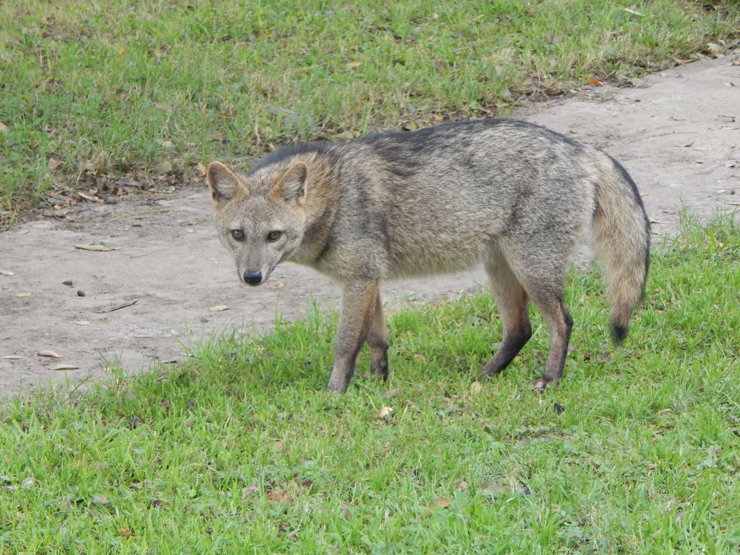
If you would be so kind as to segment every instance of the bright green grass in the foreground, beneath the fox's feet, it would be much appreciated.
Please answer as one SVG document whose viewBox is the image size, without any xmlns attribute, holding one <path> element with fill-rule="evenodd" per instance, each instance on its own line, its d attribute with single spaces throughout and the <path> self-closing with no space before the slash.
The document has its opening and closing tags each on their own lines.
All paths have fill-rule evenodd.
<svg viewBox="0 0 740 555">
<path fill-rule="evenodd" d="M 314 313 L 16 398 L 0 554 L 737 553 L 740 226 L 688 223 L 660 251 L 618 349 L 598 272 L 571 273 L 575 351 L 544 395 L 539 314 L 471 388 L 501 332 L 481 292 L 392 315 L 390 383 L 361 376 L 365 353 L 343 396 L 322 391 L 336 318 Z"/>
</svg>

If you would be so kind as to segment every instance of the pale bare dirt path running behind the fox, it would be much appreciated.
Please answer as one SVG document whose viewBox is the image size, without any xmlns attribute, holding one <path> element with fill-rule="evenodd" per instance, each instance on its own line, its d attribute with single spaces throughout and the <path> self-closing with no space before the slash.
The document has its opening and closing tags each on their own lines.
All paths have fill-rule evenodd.
<svg viewBox="0 0 740 555">
<path fill-rule="evenodd" d="M 733 58 L 650 75 L 634 89 L 585 87 L 514 116 L 607 149 L 635 178 L 654 232 L 669 232 L 682 201 L 700 215 L 740 202 L 740 192 L 733 194 L 740 191 L 740 66 Z M 310 309 L 311 297 L 320 306 L 336 303 L 328 278 L 293 264 L 278 267 L 266 286 L 240 286 L 211 216 L 201 186 L 79 205 L 62 220 L 0 234 L 0 269 L 15 272 L 0 275 L 0 395 L 65 376 L 80 383 L 104 371 L 106 360 L 127 371 L 181 361 L 183 346 L 214 332 L 269 326 L 279 313 L 296 317 Z M 115 250 L 75 249 L 101 241 Z M 386 284 L 383 295 L 423 300 L 480 283 L 482 272 L 468 272 Z M 137 302 L 102 312 L 131 300 Z M 229 309 L 209 311 L 218 305 Z M 42 350 L 61 359 L 39 357 Z M 78 368 L 54 370 L 59 364 Z"/>
</svg>

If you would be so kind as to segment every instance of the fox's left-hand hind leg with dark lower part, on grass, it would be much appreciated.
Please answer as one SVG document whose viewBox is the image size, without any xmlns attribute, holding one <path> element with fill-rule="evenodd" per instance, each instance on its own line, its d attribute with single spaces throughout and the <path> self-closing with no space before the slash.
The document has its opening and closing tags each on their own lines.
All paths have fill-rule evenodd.
<svg viewBox="0 0 740 555">
<path fill-rule="evenodd" d="M 529 323 L 527 292 L 519 283 L 514 272 L 496 247 L 488 256 L 485 272 L 491 281 L 491 292 L 501 312 L 504 324 L 504 337 L 501 348 L 483 367 L 480 378 L 498 374 L 514 360 L 525 343 L 532 337 Z"/>
</svg>

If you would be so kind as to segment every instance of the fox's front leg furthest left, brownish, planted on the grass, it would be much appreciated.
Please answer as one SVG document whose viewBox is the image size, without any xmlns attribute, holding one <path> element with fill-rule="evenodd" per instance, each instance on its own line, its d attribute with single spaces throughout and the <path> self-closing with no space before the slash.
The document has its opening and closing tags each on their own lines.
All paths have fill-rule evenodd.
<svg viewBox="0 0 740 555">
<path fill-rule="evenodd" d="M 339 331 L 334 343 L 334 369 L 326 391 L 347 391 L 357 364 L 357 353 L 368 334 L 378 300 L 377 280 L 352 281 L 344 287 Z"/>
</svg>

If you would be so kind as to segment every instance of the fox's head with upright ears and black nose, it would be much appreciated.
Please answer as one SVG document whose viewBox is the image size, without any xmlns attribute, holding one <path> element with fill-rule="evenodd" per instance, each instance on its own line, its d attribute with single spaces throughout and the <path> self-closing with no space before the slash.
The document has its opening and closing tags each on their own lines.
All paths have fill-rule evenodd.
<svg viewBox="0 0 740 555">
<path fill-rule="evenodd" d="M 209 164 L 206 178 L 218 235 L 244 283 L 265 283 L 275 266 L 300 246 L 308 172 L 303 161 L 260 177 L 239 175 L 221 162 Z"/>
</svg>

